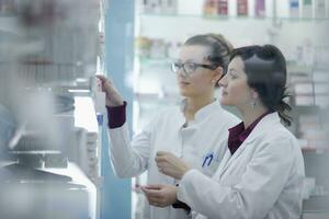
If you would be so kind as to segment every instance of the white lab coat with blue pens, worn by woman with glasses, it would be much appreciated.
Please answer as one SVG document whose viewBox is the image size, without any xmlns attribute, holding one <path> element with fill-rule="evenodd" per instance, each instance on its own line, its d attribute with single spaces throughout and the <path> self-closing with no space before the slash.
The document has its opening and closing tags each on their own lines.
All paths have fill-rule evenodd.
<svg viewBox="0 0 329 219">
<path fill-rule="evenodd" d="M 112 166 L 120 177 L 137 176 L 148 170 L 148 184 L 174 185 L 172 177 L 158 172 L 155 158 L 156 152 L 161 150 L 170 151 L 196 170 L 212 175 L 225 154 L 228 128 L 238 123 L 239 119 L 224 111 L 218 101 L 201 108 L 188 127 L 183 127 L 185 117 L 180 107 L 169 107 L 160 112 L 140 134 L 134 136 L 133 140 L 129 138 L 127 124 L 109 130 Z M 208 159 L 202 168 L 205 157 L 209 153 L 213 154 L 212 162 Z M 146 208 L 145 218 L 188 218 L 185 210 L 171 206 Z"/>
</svg>

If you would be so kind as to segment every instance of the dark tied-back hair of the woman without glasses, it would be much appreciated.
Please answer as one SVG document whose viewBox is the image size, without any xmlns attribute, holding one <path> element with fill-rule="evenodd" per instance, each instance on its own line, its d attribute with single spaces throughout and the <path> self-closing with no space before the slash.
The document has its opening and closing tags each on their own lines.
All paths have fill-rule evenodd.
<svg viewBox="0 0 329 219">
<path fill-rule="evenodd" d="M 281 50 L 273 45 L 247 46 L 232 51 L 230 60 L 241 57 L 250 88 L 260 95 L 261 102 L 271 112 L 277 112 L 285 125 L 292 118 L 287 113 L 292 110 L 284 102 L 286 93 L 286 61 Z"/>
</svg>

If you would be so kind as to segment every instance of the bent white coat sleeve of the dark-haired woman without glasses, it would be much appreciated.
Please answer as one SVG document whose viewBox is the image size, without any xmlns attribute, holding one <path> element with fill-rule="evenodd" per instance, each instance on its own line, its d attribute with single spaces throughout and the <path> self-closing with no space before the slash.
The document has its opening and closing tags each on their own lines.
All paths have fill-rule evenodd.
<svg viewBox="0 0 329 219">
<path fill-rule="evenodd" d="M 282 192 L 293 166 L 290 139 L 263 143 L 241 181 L 224 186 L 196 170 L 180 182 L 178 199 L 209 218 L 264 218 Z"/>
</svg>

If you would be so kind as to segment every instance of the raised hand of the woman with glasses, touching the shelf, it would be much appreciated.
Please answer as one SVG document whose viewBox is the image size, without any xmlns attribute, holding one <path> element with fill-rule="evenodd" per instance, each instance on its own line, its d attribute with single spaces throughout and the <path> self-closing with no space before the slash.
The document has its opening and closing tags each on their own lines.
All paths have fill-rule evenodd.
<svg viewBox="0 0 329 219">
<path fill-rule="evenodd" d="M 104 76 L 97 76 L 100 80 L 100 85 L 106 94 L 106 106 L 120 106 L 124 104 L 124 100 L 115 89 L 113 82 Z"/>
</svg>

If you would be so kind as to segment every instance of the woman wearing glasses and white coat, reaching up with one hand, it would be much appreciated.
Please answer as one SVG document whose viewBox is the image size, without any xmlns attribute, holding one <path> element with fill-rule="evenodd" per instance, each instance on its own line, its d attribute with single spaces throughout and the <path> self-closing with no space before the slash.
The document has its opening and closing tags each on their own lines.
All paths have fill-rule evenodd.
<svg viewBox="0 0 329 219">
<path fill-rule="evenodd" d="M 145 192 L 163 193 L 162 185 L 172 187 L 177 182 L 158 171 L 155 161 L 157 151 L 170 151 L 185 160 L 191 166 L 211 176 L 225 153 L 228 128 L 239 119 L 220 107 L 214 97 L 215 87 L 227 69 L 231 45 L 224 36 L 206 34 L 189 38 L 182 46 L 179 59 L 172 64 L 180 94 L 181 106 L 161 110 L 150 123 L 129 138 L 125 119 L 125 107 L 121 94 L 112 82 L 98 77 L 106 93 L 111 161 L 120 177 L 133 177 L 148 171 Z M 170 198 L 170 197 L 168 197 Z M 164 207 L 148 199 L 144 218 L 188 218 L 183 205 Z M 173 204 L 175 198 L 171 200 Z M 161 208 L 160 208 L 161 207 Z"/>
</svg>

